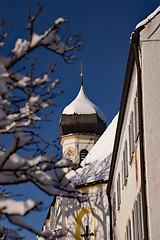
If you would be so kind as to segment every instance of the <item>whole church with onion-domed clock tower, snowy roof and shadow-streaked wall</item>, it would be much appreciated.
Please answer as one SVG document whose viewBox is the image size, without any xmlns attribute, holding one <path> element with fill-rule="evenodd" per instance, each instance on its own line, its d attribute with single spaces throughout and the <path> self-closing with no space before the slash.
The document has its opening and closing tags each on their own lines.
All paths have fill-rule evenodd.
<svg viewBox="0 0 160 240">
<path fill-rule="evenodd" d="M 87 98 L 81 70 L 79 93 L 64 108 L 59 131 L 64 158 L 80 163 L 89 152 L 81 167 L 62 179 L 64 183 L 69 181 L 68 186 L 75 187 L 84 198 L 81 201 L 70 195 L 54 197 L 43 231 L 64 234 L 63 240 L 109 239 L 106 183 L 115 130 L 115 120 L 106 129 L 104 114 Z"/>
</svg>

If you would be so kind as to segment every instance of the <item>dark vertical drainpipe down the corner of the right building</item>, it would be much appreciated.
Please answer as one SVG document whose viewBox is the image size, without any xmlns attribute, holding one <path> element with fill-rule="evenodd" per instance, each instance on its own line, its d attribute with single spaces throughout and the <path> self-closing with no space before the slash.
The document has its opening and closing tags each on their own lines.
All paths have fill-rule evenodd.
<svg viewBox="0 0 160 240">
<path fill-rule="evenodd" d="M 138 29 L 137 29 L 138 30 Z M 141 167 L 141 192 L 142 192 L 142 212 L 144 240 L 148 240 L 148 216 L 147 216 L 147 196 L 146 196 L 146 174 L 145 174 L 145 155 L 144 155 L 144 128 L 143 128 L 143 99 L 142 99 L 142 77 L 139 62 L 139 32 L 135 32 L 132 38 L 133 50 L 137 67 L 137 88 L 138 88 L 138 112 L 139 112 L 139 137 L 140 137 L 140 167 Z"/>
</svg>

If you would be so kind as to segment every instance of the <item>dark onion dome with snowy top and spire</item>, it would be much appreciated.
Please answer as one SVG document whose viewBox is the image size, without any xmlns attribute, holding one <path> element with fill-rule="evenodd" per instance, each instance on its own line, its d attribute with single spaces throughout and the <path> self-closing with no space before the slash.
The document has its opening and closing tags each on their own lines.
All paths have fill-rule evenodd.
<svg viewBox="0 0 160 240">
<path fill-rule="evenodd" d="M 77 97 L 62 112 L 60 136 L 76 133 L 102 135 L 106 129 L 106 118 L 103 112 L 88 99 L 82 77 L 81 73 L 81 88 Z"/>
</svg>

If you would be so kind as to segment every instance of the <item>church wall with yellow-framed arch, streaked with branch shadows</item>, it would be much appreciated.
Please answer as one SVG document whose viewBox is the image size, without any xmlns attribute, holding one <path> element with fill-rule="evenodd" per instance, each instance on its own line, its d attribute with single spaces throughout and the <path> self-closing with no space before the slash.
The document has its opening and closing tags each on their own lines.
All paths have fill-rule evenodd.
<svg viewBox="0 0 160 240">
<path fill-rule="evenodd" d="M 55 229 L 61 226 L 63 232 L 66 233 L 66 236 L 63 237 L 64 240 L 83 239 L 81 234 L 86 232 L 86 226 L 89 226 L 89 232 L 94 234 L 90 239 L 109 239 L 106 186 L 84 188 L 79 191 L 86 194 L 88 201 L 80 203 L 77 199 L 59 197 L 54 209 L 51 209 L 55 212 L 55 223 L 52 225 L 55 226 Z M 51 215 L 53 214 L 51 213 Z"/>
</svg>

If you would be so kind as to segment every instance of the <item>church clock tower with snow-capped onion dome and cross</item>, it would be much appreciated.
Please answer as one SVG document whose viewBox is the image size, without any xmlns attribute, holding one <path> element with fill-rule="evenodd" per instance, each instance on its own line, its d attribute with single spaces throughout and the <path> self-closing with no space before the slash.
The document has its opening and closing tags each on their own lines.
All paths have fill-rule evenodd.
<svg viewBox="0 0 160 240">
<path fill-rule="evenodd" d="M 106 129 L 103 112 L 87 97 L 83 86 L 77 97 L 62 112 L 59 132 L 63 157 L 80 163 Z"/>
</svg>

